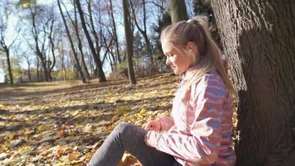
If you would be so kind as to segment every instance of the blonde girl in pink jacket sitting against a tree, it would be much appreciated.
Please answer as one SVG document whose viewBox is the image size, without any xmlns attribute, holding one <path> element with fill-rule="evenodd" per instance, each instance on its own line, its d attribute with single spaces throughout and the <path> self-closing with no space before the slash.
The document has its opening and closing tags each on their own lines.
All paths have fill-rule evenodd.
<svg viewBox="0 0 295 166">
<path fill-rule="evenodd" d="M 172 116 L 151 120 L 146 129 L 116 126 L 87 165 L 116 166 L 126 150 L 144 166 L 234 166 L 235 92 L 206 17 L 172 24 L 160 40 L 166 65 L 182 75 Z"/>
</svg>

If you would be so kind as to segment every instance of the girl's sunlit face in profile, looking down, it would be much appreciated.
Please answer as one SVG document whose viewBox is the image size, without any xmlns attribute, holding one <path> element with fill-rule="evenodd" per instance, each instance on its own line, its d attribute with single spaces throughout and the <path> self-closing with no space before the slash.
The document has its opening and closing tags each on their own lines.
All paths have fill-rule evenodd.
<svg viewBox="0 0 295 166">
<path fill-rule="evenodd" d="M 162 49 L 167 57 L 166 65 L 171 66 L 176 75 L 185 72 L 195 62 L 193 52 L 181 53 L 180 50 L 175 49 L 169 42 L 162 42 Z"/>
</svg>

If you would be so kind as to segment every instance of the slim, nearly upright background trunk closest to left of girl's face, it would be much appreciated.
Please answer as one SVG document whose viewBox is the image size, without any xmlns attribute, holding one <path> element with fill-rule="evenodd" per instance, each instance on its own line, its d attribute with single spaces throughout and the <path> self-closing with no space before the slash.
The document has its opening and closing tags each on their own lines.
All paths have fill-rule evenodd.
<svg viewBox="0 0 295 166">
<path fill-rule="evenodd" d="M 132 47 L 132 34 L 130 29 L 130 24 L 128 21 L 128 2 L 127 0 L 122 0 L 123 3 L 123 13 L 124 13 L 124 29 L 125 29 L 125 37 L 126 37 L 126 47 L 127 47 L 127 60 L 128 60 L 128 76 L 129 82 L 133 85 L 136 84 L 133 64 L 132 64 L 132 56 L 133 56 L 133 47 Z"/>
</svg>

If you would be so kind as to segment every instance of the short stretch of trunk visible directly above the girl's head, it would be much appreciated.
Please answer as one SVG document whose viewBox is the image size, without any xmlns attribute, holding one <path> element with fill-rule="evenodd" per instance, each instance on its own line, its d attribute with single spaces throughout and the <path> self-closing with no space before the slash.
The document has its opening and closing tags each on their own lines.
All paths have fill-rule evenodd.
<svg viewBox="0 0 295 166">
<path fill-rule="evenodd" d="M 169 0 L 169 8 L 172 23 L 188 19 L 184 0 Z"/>
</svg>

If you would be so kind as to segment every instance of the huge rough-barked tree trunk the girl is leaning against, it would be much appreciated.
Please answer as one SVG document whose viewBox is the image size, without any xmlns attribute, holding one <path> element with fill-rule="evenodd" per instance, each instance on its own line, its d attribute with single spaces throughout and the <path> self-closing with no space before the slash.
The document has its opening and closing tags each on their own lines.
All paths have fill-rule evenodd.
<svg viewBox="0 0 295 166">
<path fill-rule="evenodd" d="M 295 1 L 212 0 L 238 91 L 237 166 L 295 163 Z"/>
</svg>

